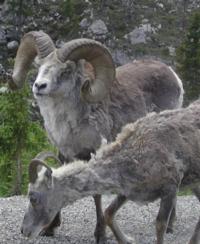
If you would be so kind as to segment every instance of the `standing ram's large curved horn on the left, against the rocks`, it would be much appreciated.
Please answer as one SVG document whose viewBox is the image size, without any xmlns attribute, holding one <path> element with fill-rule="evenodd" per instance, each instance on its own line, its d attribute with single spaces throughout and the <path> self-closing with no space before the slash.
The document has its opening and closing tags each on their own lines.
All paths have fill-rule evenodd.
<svg viewBox="0 0 200 244">
<path fill-rule="evenodd" d="M 55 50 L 52 39 L 43 31 L 31 31 L 24 35 L 17 51 L 11 89 L 21 88 L 34 58 L 45 58 Z"/>
</svg>

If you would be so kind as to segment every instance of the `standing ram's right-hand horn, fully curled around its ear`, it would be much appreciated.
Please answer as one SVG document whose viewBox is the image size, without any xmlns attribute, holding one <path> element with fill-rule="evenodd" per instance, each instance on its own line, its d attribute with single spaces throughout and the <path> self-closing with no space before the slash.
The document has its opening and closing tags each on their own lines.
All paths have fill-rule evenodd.
<svg viewBox="0 0 200 244">
<path fill-rule="evenodd" d="M 82 86 L 82 96 L 88 102 L 101 101 L 109 93 L 115 79 L 115 65 L 108 49 L 100 42 L 76 39 L 65 43 L 57 50 L 61 62 L 85 59 L 94 67 L 95 80 Z"/>
</svg>

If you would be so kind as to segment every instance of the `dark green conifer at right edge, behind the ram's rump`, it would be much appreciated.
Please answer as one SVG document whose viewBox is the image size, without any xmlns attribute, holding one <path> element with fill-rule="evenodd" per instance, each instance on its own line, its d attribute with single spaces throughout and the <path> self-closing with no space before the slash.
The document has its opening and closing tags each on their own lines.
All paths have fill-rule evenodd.
<svg viewBox="0 0 200 244">
<path fill-rule="evenodd" d="M 187 102 L 197 99 L 200 94 L 200 12 L 190 19 L 187 35 L 177 48 L 177 70 L 186 90 Z"/>
</svg>

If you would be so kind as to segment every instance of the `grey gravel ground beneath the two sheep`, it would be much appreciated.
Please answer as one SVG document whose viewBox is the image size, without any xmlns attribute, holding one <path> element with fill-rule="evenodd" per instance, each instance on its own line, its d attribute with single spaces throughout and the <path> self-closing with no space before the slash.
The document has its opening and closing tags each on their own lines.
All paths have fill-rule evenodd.
<svg viewBox="0 0 200 244">
<path fill-rule="evenodd" d="M 113 196 L 104 196 L 104 206 Z M 20 234 L 20 225 L 27 206 L 25 197 L 0 198 L 1 244 L 94 244 L 95 208 L 92 198 L 75 202 L 62 210 L 62 225 L 55 237 L 38 237 L 29 240 Z M 128 202 L 119 211 L 117 219 L 125 233 L 135 237 L 137 244 L 155 241 L 155 218 L 159 202 L 139 206 Z M 179 197 L 177 221 L 173 234 L 166 235 L 166 244 L 186 244 L 198 220 L 200 204 L 193 196 Z M 108 231 L 108 244 L 116 244 Z"/>
</svg>

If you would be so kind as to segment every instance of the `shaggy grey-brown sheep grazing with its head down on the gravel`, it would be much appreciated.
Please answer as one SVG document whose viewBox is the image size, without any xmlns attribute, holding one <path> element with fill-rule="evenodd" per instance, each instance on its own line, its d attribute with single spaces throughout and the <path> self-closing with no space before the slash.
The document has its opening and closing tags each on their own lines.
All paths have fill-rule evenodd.
<svg viewBox="0 0 200 244">
<path fill-rule="evenodd" d="M 37 236 L 62 207 L 77 199 L 115 193 L 124 199 L 114 200 L 105 211 L 105 220 L 118 243 L 133 243 L 114 220 L 119 205 L 127 199 L 148 203 L 160 198 L 156 243 L 162 244 L 167 225 L 174 218 L 179 188 L 190 186 L 200 199 L 199 155 L 200 100 L 188 108 L 150 113 L 126 125 L 116 140 L 103 145 L 87 164 L 76 161 L 51 169 L 34 159 L 29 166 L 30 203 L 22 233 Z M 39 165 L 44 167 L 37 173 Z M 199 243 L 199 236 L 200 220 L 190 244 Z"/>
</svg>

